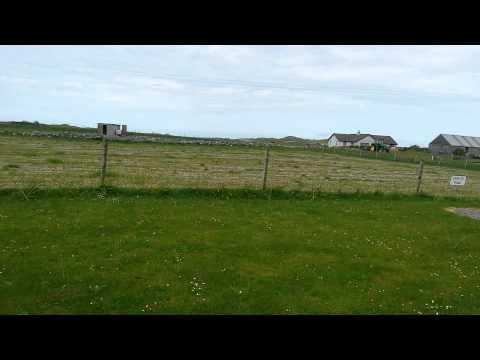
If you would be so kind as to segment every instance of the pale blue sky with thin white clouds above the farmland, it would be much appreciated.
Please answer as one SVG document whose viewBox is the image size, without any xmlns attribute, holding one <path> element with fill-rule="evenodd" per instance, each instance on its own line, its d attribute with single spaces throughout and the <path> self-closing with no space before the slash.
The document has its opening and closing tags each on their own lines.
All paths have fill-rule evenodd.
<svg viewBox="0 0 480 360">
<path fill-rule="evenodd" d="M 427 146 L 479 111 L 480 46 L 0 46 L 0 121 Z"/>
</svg>

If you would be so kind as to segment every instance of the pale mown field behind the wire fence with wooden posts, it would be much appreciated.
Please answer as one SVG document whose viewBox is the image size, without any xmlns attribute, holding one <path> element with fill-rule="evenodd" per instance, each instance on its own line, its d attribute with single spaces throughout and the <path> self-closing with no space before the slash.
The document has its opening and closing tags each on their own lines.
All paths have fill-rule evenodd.
<svg viewBox="0 0 480 360">
<path fill-rule="evenodd" d="M 0 136 L 0 188 L 97 186 L 102 151 L 102 144 L 94 140 Z M 386 193 L 416 190 L 414 163 L 313 149 L 274 148 L 270 154 L 269 188 Z M 258 189 L 263 164 L 261 148 L 111 142 L 107 183 L 128 188 Z M 467 175 L 467 186 L 452 188 L 449 180 L 453 175 Z M 440 196 L 478 196 L 480 171 L 426 165 L 422 190 Z"/>
</svg>

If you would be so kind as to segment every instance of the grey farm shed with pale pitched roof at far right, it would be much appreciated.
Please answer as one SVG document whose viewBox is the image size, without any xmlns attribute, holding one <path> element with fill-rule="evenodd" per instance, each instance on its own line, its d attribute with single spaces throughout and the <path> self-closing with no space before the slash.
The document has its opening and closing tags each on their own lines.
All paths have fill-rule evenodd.
<svg viewBox="0 0 480 360">
<path fill-rule="evenodd" d="M 480 137 L 463 135 L 438 135 L 429 145 L 433 155 L 451 155 L 460 149 L 467 156 L 480 156 Z"/>
</svg>

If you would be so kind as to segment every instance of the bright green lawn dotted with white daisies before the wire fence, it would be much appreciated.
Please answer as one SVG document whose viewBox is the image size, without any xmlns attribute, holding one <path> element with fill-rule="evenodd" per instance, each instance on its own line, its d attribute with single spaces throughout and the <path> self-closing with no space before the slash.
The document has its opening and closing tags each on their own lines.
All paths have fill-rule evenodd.
<svg viewBox="0 0 480 360">
<path fill-rule="evenodd" d="M 444 210 L 478 200 L 91 190 L 0 203 L 2 314 L 480 313 L 480 222 Z"/>
</svg>

